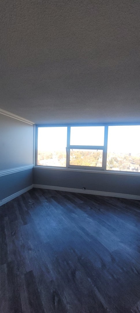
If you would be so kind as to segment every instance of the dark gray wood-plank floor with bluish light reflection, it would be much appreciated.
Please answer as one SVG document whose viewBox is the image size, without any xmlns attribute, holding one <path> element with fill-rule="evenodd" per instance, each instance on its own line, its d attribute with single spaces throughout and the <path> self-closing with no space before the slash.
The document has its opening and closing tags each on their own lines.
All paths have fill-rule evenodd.
<svg viewBox="0 0 140 313">
<path fill-rule="evenodd" d="M 140 202 L 33 189 L 0 208 L 1 313 L 140 312 Z"/>
</svg>

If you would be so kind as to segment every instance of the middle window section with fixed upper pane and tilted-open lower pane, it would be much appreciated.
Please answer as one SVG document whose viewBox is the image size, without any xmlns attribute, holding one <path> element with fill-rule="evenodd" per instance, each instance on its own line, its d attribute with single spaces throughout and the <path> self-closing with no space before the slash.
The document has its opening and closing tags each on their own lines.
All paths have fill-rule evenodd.
<svg viewBox="0 0 140 313">
<path fill-rule="evenodd" d="M 70 127 L 69 167 L 103 167 L 104 126 Z"/>
</svg>

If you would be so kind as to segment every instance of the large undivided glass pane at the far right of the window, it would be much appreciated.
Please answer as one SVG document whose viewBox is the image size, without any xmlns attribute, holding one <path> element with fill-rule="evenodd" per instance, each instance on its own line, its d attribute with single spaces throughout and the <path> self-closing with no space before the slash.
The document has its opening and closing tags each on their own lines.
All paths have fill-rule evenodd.
<svg viewBox="0 0 140 313">
<path fill-rule="evenodd" d="M 107 170 L 140 172 L 140 125 L 109 126 Z"/>
</svg>

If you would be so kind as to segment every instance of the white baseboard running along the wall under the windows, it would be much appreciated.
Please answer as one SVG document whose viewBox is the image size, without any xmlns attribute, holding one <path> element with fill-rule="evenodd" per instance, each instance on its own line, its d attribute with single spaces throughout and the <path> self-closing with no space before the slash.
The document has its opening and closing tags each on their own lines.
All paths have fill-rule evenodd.
<svg viewBox="0 0 140 313">
<path fill-rule="evenodd" d="M 65 187 L 46 186 L 46 185 L 37 185 L 37 184 L 33 184 L 33 188 L 60 190 L 60 191 L 77 192 L 77 193 L 88 193 L 88 194 L 97 195 L 97 196 L 140 200 L 140 196 L 128 195 L 124 193 L 114 193 L 114 192 L 105 192 L 105 191 L 96 191 L 96 190 L 83 190 L 83 189 L 76 189 L 76 188 L 65 188 Z"/>
</svg>

